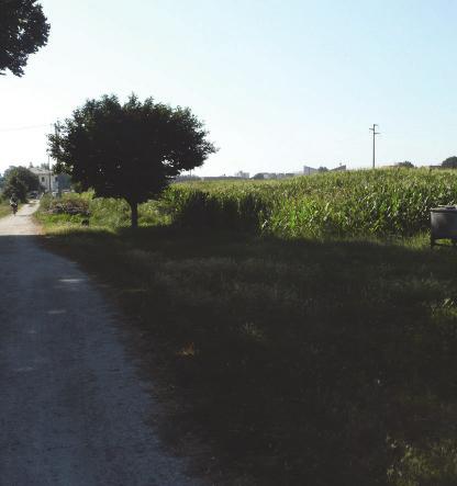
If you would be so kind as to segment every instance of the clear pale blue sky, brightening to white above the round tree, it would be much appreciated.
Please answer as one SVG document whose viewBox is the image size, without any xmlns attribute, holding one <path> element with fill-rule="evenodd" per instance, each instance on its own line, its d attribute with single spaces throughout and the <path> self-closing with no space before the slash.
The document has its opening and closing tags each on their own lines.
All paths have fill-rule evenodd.
<svg viewBox="0 0 457 486">
<path fill-rule="evenodd" d="M 47 46 L 0 77 L 0 171 L 47 161 L 87 99 L 189 106 L 219 151 L 194 173 L 439 163 L 457 155 L 454 0 L 41 0 Z"/>
</svg>

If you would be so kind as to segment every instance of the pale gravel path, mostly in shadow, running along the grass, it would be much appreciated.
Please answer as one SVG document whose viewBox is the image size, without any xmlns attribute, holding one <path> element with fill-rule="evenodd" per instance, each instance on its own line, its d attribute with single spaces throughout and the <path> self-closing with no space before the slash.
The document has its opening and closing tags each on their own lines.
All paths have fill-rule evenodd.
<svg viewBox="0 0 457 486">
<path fill-rule="evenodd" d="M 0 219 L 0 485 L 194 485 L 145 419 L 147 384 L 115 316 L 75 263 Z"/>
</svg>

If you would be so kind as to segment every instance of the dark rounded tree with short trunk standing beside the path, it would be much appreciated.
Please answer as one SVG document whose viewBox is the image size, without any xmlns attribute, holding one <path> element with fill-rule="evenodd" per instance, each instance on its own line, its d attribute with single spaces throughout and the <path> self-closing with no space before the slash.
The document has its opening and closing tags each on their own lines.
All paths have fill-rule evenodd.
<svg viewBox="0 0 457 486">
<path fill-rule="evenodd" d="M 136 227 L 140 203 L 216 151 L 207 135 L 190 109 L 132 94 L 124 104 L 114 95 L 88 100 L 48 139 L 55 171 L 98 197 L 124 199 Z"/>
</svg>

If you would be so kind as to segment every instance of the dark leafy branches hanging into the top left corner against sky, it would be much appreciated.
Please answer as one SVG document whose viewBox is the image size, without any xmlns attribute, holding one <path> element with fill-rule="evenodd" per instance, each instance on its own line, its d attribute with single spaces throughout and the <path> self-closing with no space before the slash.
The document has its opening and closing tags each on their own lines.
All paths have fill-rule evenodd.
<svg viewBox="0 0 457 486">
<path fill-rule="evenodd" d="M 29 55 L 47 44 L 46 20 L 36 0 L 0 0 L 0 75 L 24 74 Z"/>
</svg>

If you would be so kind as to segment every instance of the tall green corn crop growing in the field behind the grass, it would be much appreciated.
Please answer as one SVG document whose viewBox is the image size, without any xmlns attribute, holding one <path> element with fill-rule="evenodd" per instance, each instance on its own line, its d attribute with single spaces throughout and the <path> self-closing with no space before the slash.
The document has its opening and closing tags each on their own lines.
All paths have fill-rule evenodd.
<svg viewBox="0 0 457 486">
<path fill-rule="evenodd" d="M 457 203 L 457 171 L 383 169 L 286 181 L 192 182 L 165 194 L 176 223 L 290 237 L 412 235 Z"/>
</svg>

